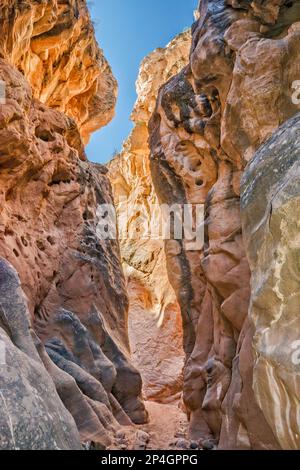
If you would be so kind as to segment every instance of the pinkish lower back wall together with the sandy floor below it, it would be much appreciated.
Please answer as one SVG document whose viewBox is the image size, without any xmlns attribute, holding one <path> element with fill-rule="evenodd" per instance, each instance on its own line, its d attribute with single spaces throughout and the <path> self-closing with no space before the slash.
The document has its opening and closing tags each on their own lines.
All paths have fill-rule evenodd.
<svg viewBox="0 0 300 470">
<path fill-rule="evenodd" d="M 118 443 L 124 449 L 189 449 L 182 402 L 182 322 L 177 303 L 168 304 L 164 311 L 161 305 L 155 309 L 149 292 L 136 280 L 129 282 L 128 294 L 131 359 L 143 380 L 149 423 L 139 431 L 125 431 Z"/>
</svg>

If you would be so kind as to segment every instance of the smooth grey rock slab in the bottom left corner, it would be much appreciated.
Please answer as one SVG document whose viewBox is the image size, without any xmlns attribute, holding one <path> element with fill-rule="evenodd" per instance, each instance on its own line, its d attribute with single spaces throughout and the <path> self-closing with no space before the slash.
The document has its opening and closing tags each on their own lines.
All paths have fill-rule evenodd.
<svg viewBox="0 0 300 470">
<path fill-rule="evenodd" d="M 31 337 L 18 275 L 3 258 L 0 296 L 1 449 L 80 449 L 73 418 Z"/>
</svg>

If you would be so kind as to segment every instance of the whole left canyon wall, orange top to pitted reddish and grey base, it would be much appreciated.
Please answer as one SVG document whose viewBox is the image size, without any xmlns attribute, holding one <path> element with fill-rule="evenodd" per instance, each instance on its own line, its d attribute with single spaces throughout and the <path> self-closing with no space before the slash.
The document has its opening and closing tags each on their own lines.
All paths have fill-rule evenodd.
<svg viewBox="0 0 300 470">
<path fill-rule="evenodd" d="M 51 38 L 60 52 L 68 43 L 76 70 L 83 67 L 83 50 L 97 46 L 85 2 L 2 1 L 0 6 L 5 45 L 0 80 L 6 95 L 0 104 L 0 448 L 68 449 L 83 442 L 104 448 L 120 425 L 147 420 L 141 377 L 129 361 L 128 298 L 118 241 L 104 240 L 98 231 L 98 207 L 113 203 L 111 187 L 107 170 L 86 160 L 64 88 L 57 107 L 66 105 L 68 115 L 49 107 L 50 95 L 50 101 L 43 100 L 47 104 L 36 99 L 39 81 L 35 89 L 35 80 L 31 87 L 24 76 L 35 69 L 32 37 L 48 31 L 58 13 L 72 18 L 67 24 L 73 29 L 64 34 L 66 25 L 59 22 L 45 33 L 46 68 L 54 52 L 47 42 Z M 39 26 L 32 35 L 37 12 Z M 77 28 L 88 41 L 86 47 L 79 42 L 80 53 L 70 36 Z M 95 77 L 101 81 L 99 74 Z M 62 74 L 62 83 L 65 78 Z M 107 92 L 114 96 L 112 77 L 110 84 Z M 75 83 L 66 86 L 75 97 Z M 83 98 L 80 90 L 74 115 L 75 103 Z M 86 92 L 91 93 L 88 119 L 100 112 L 99 95 L 96 89 Z M 88 122 L 80 119 L 79 125 Z"/>
</svg>

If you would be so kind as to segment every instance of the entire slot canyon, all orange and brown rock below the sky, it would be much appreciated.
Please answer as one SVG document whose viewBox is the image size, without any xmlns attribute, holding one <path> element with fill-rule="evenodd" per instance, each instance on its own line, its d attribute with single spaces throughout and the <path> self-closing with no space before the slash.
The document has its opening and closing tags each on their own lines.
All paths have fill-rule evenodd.
<svg viewBox="0 0 300 470">
<path fill-rule="evenodd" d="M 105 165 L 87 4 L 0 0 L 0 449 L 299 450 L 300 1 L 200 0 Z"/>
</svg>

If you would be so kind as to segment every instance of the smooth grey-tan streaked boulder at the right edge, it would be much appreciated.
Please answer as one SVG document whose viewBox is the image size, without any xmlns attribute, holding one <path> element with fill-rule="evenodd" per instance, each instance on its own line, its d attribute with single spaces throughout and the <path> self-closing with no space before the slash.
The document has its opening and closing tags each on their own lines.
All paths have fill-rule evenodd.
<svg viewBox="0 0 300 470">
<path fill-rule="evenodd" d="M 253 388 L 283 448 L 300 448 L 300 115 L 259 149 L 242 180 L 244 240 L 252 272 Z"/>
</svg>

